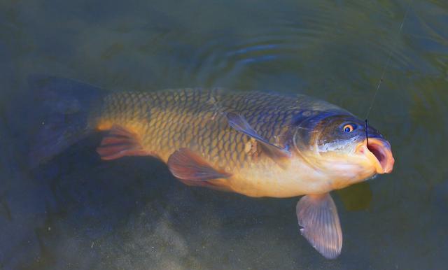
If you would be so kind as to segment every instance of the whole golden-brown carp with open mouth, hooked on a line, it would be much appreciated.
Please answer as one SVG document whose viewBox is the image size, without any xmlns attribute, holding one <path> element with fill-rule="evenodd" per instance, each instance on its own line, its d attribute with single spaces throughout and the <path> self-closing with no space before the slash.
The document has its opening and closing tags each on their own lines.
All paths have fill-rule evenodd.
<svg viewBox="0 0 448 270">
<path fill-rule="evenodd" d="M 248 197 L 302 196 L 300 233 L 328 259 L 342 250 L 330 192 L 391 173 L 395 162 L 377 129 L 304 94 L 111 91 L 51 76 L 29 83 L 47 111 L 38 119 L 32 164 L 102 132 L 97 153 L 104 161 L 153 156 L 186 185 Z"/>
</svg>

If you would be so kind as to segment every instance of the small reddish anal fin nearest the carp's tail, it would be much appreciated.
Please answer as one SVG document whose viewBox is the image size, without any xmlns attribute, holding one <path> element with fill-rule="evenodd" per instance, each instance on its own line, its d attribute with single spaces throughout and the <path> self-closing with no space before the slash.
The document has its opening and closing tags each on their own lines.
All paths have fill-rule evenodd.
<svg viewBox="0 0 448 270">
<path fill-rule="evenodd" d="M 109 130 L 97 148 L 97 152 L 104 160 L 132 155 L 150 155 L 141 147 L 137 134 L 120 126 L 113 126 Z"/>
</svg>

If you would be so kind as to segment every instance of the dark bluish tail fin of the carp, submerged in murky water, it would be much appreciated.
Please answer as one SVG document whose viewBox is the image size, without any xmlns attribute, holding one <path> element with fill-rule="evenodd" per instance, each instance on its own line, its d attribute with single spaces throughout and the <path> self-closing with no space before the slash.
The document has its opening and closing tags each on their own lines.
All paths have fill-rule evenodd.
<svg viewBox="0 0 448 270">
<path fill-rule="evenodd" d="M 76 80 L 50 76 L 30 76 L 29 86 L 35 106 L 34 121 L 40 127 L 31 141 L 31 167 L 46 162 L 76 141 L 87 136 L 88 116 L 107 92 Z"/>
</svg>

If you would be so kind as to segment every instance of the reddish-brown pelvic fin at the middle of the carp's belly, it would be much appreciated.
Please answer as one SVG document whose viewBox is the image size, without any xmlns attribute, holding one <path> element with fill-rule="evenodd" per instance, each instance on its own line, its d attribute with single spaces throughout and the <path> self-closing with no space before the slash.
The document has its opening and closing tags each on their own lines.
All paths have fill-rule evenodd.
<svg viewBox="0 0 448 270">
<path fill-rule="evenodd" d="M 181 148 L 168 158 L 169 171 L 182 180 L 204 181 L 217 178 L 228 178 L 230 173 L 212 168 L 195 152 Z"/>
</svg>

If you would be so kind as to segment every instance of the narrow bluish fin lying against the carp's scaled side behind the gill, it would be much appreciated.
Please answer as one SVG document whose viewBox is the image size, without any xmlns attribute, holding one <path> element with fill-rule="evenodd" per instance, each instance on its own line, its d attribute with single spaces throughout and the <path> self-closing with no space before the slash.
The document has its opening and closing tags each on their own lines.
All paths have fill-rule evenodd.
<svg viewBox="0 0 448 270">
<path fill-rule="evenodd" d="M 239 132 L 243 132 L 247 136 L 251 136 L 252 138 L 255 138 L 255 140 L 259 141 L 262 144 L 263 149 L 270 157 L 281 158 L 281 157 L 290 157 L 290 152 L 286 149 L 280 148 L 277 145 L 274 145 L 273 143 L 269 143 L 266 138 L 263 138 L 260 136 L 255 129 L 249 125 L 247 120 L 237 114 L 237 113 L 226 113 L 228 122 L 230 127 L 233 127 Z"/>
</svg>

